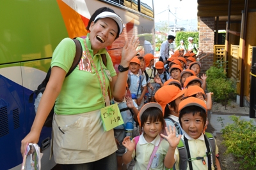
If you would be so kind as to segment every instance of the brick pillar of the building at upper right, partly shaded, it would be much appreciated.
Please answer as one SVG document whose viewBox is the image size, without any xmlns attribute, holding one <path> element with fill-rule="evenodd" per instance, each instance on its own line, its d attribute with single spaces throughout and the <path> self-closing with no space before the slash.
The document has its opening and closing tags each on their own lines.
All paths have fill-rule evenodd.
<svg viewBox="0 0 256 170">
<path fill-rule="evenodd" d="M 210 55 L 201 60 L 201 73 L 205 73 L 213 64 L 214 52 L 214 17 L 199 17 L 199 48 Z M 203 54 L 204 55 L 204 54 Z"/>
</svg>

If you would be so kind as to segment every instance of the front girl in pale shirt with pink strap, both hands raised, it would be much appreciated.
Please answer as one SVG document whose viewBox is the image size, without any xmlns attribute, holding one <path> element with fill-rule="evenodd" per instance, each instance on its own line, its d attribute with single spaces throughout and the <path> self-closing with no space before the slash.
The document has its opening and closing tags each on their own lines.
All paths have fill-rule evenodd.
<svg viewBox="0 0 256 170">
<path fill-rule="evenodd" d="M 131 139 L 126 137 L 123 145 L 126 152 L 123 155 L 124 164 L 128 164 L 136 156 L 133 169 L 171 168 L 175 163 L 174 154 L 181 135 L 176 137 L 175 127 L 165 128 L 161 105 L 158 103 L 145 104 L 138 115 L 143 133 Z M 162 133 L 160 135 L 160 133 Z M 163 140 L 165 138 L 166 140 Z"/>
</svg>

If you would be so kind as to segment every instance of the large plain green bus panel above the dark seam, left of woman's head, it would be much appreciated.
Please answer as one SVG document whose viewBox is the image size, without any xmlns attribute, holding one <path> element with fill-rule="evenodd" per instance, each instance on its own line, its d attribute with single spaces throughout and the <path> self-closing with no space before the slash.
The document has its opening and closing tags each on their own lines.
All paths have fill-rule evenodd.
<svg viewBox="0 0 256 170">
<path fill-rule="evenodd" d="M 1 1 L 0 16 L 0 64 L 52 57 L 68 36 L 54 0 Z"/>
</svg>

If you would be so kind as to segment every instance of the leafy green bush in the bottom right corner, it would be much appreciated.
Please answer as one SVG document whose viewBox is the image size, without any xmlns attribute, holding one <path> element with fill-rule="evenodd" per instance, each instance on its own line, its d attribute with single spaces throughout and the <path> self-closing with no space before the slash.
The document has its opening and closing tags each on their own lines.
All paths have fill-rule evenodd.
<svg viewBox="0 0 256 170">
<path fill-rule="evenodd" d="M 223 144 L 227 147 L 225 153 L 231 153 L 239 169 L 256 169 L 256 126 L 252 120 L 240 120 L 240 117 L 231 116 L 234 124 L 228 124 L 221 130 Z M 223 118 L 218 120 L 221 125 Z"/>
</svg>

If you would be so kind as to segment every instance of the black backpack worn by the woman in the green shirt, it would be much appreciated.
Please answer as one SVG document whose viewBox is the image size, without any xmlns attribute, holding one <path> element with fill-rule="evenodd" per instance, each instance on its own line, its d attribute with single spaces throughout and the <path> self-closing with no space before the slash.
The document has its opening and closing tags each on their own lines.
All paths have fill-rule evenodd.
<svg viewBox="0 0 256 170">
<path fill-rule="evenodd" d="M 72 66 L 70 67 L 68 73 L 66 74 L 65 77 L 67 77 L 69 74 L 72 73 L 72 71 L 74 71 L 74 69 L 76 69 L 77 65 L 79 64 L 82 54 L 83 54 L 83 48 L 81 43 L 79 42 L 78 39 L 73 39 L 74 43 L 76 44 L 76 55 L 74 57 Z M 102 57 L 102 62 L 104 63 L 104 65 L 106 66 L 106 54 L 101 54 Z M 42 81 L 42 83 L 40 85 L 38 85 L 37 89 L 29 96 L 29 103 L 33 103 L 34 101 L 34 96 L 35 96 L 35 101 L 34 101 L 34 106 L 35 106 L 35 113 L 36 110 L 38 108 L 38 104 L 40 102 L 40 99 L 42 97 L 42 95 L 44 94 L 44 90 L 45 87 L 49 81 L 49 78 L 51 76 L 51 67 L 49 68 L 49 70 L 47 71 L 47 74 L 44 78 L 44 80 Z M 55 106 L 55 104 L 54 104 Z M 52 110 L 50 111 L 48 117 L 45 120 L 44 126 L 45 127 L 52 127 L 52 119 L 53 119 L 53 115 L 54 115 L 54 106 L 52 107 Z"/>
</svg>

